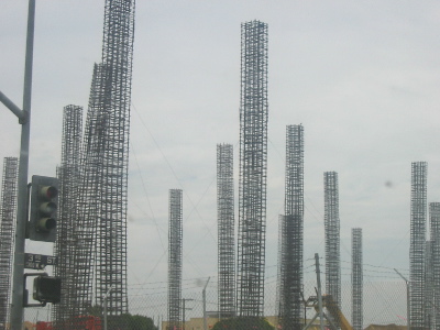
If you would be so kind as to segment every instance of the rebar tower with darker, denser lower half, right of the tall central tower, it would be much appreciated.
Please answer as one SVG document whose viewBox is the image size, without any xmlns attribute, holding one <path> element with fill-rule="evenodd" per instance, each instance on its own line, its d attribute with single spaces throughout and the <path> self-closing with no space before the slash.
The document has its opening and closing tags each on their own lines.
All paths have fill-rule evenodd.
<svg viewBox="0 0 440 330">
<path fill-rule="evenodd" d="M 304 128 L 286 129 L 285 216 L 282 217 L 278 322 L 299 330 L 301 321 L 304 242 Z"/>
</svg>

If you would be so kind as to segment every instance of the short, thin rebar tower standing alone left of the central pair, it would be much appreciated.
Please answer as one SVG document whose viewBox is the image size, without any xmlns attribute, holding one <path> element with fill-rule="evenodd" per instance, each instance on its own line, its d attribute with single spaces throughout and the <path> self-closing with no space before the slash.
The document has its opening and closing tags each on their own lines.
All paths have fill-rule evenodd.
<svg viewBox="0 0 440 330">
<path fill-rule="evenodd" d="M 168 329 L 182 327 L 182 249 L 183 249 L 182 190 L 169 190 L 168 229 Z"/>
</svg>

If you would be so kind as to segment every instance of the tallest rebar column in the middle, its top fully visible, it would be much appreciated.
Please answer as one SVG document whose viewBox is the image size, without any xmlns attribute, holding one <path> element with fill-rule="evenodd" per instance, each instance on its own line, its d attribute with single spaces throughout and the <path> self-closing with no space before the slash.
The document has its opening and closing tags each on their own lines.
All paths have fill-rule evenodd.
<svg viewBox="0 0 440 330">
<path fill-rule="evenodd" d="M 263 316 L 267 177 L 267 24 L 241 24 L 237 309 Z"/>
</svg>

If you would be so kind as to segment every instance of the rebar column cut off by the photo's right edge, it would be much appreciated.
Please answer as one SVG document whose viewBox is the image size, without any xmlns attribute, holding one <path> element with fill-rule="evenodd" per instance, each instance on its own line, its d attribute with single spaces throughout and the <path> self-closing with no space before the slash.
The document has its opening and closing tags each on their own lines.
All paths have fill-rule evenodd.
<svg viewBox="0 0 440 330">
<path fill-rule="evenodd" d="M 440 330 L 440 202 L 429 204 L 429 226 L 432 262 L 432 309 L 435 316 L 430 329 Z"/>
</svg>

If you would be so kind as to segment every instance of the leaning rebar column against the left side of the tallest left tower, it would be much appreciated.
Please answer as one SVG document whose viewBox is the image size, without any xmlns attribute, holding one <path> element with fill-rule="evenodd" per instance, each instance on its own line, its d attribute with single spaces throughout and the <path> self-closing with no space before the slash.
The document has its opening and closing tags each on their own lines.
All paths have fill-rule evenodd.
<svg viewBox="0 0 440 330">
<path fill-rule="evenodd" d="M 91 79 L 90 97 L 84 132 L 80 184 L 78 189 L 77 208 L 75 212 L 76 227 L 74 229 L 73 254 L 75 290 L 72 296 L 70 315 L 88 315 L 92 306 L 92 276 L 95 265 L 95 235 L 99 209 L 100 183 L 102 177 L 102 142 L 103 113 L 99 111 L 101 102 L 102 64 L 95 64 Z M 101 304 L 100 304 L 101 305 Z M 75 324 L 72 324 L 74 327 Z"/>
</svg>

